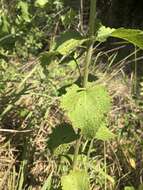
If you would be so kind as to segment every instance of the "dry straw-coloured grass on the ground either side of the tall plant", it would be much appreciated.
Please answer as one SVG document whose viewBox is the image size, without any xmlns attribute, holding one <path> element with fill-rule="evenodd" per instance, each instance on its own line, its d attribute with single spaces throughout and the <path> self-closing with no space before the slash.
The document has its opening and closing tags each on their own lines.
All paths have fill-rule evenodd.
<svg viewBox="0 0 143 190">
<path fill-rule="evenodd" d="M 138 186 L 143 180 L 140 118 L 142 110 L 132 98 L 132 82 L 129 78 L 124 78 L 122 72 L 115 77 L 111 77 L 112 73 L 108 74 L 108 72 L 101 74 L 100 69 L 96 72 L 100 76 L 104 76 L 100 81 L 104 81 L 113 97 L 110 127 L 118 134 L 114 141 L 106 144 L 108 174 L 113 176 L 116 182 L 113 187 L 109 181 L 108 188 L 120 190 L 127 184 L 134 184 L 135 179 L 136 184 L 134 185 Z M 72 75 L 74 76 L 73 72 Z M 56 79 L 55 84 L 58 84 L 58 80 L 59 78 Z M 61 175 L 59 167 L 61 165 L 59 159 L 53 157 L 47 149 L 47 140 L 51 129 L 65 121 L 66 118 L 63 117 L 58 107 L 58 98 L 51 96 L 52 90 L 48 85 L 38 86 L 36 90 L 21 96 L 14 109 L 1 120 L 1 189 L 40 190 L 51 173 L 54 179 L 53 189 L 59 186 Z M 50 95 L 47 94 L 48 90 L 45 92 L 45 88 L 48 88 Z M 41 95 L 33 95 L 37 92 Z M 27 110 L 27 114 L 20 116 L 19 110 L 23 109 Z M 96 161 L 102 165 L 103 147 L 99 146 L 98 148 L 98 144 L 95 143 L 93 147 L 94 150 L 98 150 L 95 151 L 94 156 Z M 94 156 L 91 157 L 91 161 L 94 160 Z M 92 176 L 92 172 L 90 175 Z M 98 182 L 96 188 L 93 185 L 93 189 L 101 189 Z"/>
</svg>

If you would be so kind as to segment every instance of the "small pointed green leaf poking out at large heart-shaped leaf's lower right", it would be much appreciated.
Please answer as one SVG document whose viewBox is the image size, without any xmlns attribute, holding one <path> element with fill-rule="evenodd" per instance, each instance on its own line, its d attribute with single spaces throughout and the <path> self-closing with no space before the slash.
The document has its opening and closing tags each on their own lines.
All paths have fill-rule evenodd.
<svg viewBox="0 0 143 190">
<path fill-rule="evenodd" d="M 96 133 L 96 138 L 103 141 L 110 140 L 114 137 L 115 135 L 104 125 L 101 126 Z"/>
</svg>

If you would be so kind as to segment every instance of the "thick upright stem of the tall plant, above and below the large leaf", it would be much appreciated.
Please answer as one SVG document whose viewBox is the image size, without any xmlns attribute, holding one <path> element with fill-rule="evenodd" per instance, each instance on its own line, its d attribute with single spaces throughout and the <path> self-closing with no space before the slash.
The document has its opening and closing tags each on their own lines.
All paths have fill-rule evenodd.
<svg viewBox="0 0 143 190">
<path fill-rule="evenodd" d="M 96 0 L 90 0 L 90 17 L 89 17 L 89 38 L 95 35 L 95 21 L 96 21 Z M 94 42 L 91 40 L 87 47 L 87 54 L 85 58 L 84 76 L 83 76 L 83 88 L 86 88 L 88 82 L 89 65 L 91 63 L 92 51 Z M 76 142 L 75 153 L 73 158 L 72 169 L 74 170 L 77 165 L 77 157 L 79 153 L 79 148 L 81 144 L 82 136 Z"/>
</svg>

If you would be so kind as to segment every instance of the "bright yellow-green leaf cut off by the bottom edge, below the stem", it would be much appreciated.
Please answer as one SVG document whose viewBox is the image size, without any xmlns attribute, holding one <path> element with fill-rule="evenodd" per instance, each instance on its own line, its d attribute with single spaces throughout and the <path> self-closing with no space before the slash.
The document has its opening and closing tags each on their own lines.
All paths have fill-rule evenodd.
<svg viewBox="0 0 143 190">
<path fill-rule="evenodd" d="M 62 190 L 89 190 L 89 177 L 85 171 L 71 171 L 61 178 Z"/>
</svg>

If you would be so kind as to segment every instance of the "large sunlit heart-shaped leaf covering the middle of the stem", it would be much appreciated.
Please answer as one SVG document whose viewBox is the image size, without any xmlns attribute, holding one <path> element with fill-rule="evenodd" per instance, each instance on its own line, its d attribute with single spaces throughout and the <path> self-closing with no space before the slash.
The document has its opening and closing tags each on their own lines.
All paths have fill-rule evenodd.
<svg viewBox="0 0 143 190">
<path fill-rule="evenodd" d="M 110 96 L 101 85 L 87 89 L 73 85 L 61 98 L 61 108 L 67 112 L 73 127 L 81 129 L 88 138 L 95 137 L 99 127 L 106 122 L 105 114 L 110 106 Z"/>
</svg>

